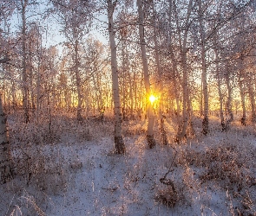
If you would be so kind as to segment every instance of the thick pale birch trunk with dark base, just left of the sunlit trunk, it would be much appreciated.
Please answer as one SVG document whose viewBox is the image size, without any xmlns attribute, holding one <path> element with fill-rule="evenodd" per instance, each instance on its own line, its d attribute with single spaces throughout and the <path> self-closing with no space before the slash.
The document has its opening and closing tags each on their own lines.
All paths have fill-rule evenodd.
<svg viewBox="0 0 256 216">
<path fill-rule="evenodd" d="M 115 115 L 115 149 L 117 154 L 124 154 L 126 149 L 121 135 L 121 107 L 116 60 L 115 29 L 113 20 L 114 10 L 115 3 L 112 3 L 112 0 L 108 0 L 108 35 L 111 49 L 112 90 Z"/>
</svg>

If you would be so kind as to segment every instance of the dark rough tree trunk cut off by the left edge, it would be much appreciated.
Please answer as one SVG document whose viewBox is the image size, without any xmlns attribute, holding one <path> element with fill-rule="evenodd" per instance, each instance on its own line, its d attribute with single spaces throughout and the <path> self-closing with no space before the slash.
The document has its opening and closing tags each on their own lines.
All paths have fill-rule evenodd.
<svg viewBox="0 0 256 216">
<path fill-rule="evenodd" d="M 0 95 L 0 124 L 0 184 L 4 184 L 13 178 L 13 164 L 10 157 L 10 143 L 6 116 L 3 112 L 2 95 Z"/>
</svg>

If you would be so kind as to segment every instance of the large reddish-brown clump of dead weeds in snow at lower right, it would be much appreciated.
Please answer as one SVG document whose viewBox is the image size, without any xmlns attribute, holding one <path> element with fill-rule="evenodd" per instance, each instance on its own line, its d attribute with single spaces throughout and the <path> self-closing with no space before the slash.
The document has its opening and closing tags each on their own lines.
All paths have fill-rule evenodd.
<svg viewBox="0 0 256 216">
<path fill-rule="evenodd" d="M 230 192 L 230 202 L 236 203 L 230 211 L 237 211 L 239 215 L 256 215 L 252 201 L 256 195 L 253 152 L 255 147 L 251 143 L 240 143 L 229 137 L 209 146 L 181 149 L 176 164 L 185 170 L 192 169 L 198 186 L 214 182 Z M 197 170 L 200 171 L 197 173 Z"/>
</svg>

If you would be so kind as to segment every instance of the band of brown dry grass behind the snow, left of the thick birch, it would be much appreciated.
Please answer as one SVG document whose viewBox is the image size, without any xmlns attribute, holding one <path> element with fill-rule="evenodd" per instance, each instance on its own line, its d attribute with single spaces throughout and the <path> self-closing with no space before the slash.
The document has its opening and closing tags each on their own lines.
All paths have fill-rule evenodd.
<svg viewBox="0 0 256 216">
<path fill-rule="evenodd" d="M 30 118 L 29 124 L 23 124 L 22 115 L 10 115 L 8 117 L 10 126 L 10 142 L 26 145 L 54 144 L 66 142 L 67 138 L 75 143 L 83 143 L 96 140 L 99 137 L 110 137 L 114 133 L 112 119 L 98 121 L 95 118 L 86 118 L 78 122 L 75 117 L 61 116 L 59 114 L 51 117 L 51 123 L 47 117 Z"/>
</svg>

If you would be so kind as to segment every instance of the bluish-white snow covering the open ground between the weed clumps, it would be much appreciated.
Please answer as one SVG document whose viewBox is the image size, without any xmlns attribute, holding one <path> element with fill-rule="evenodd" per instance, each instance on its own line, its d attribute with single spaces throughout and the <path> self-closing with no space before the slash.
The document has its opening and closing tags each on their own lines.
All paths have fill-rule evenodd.
<svg viewBox="0 0 256 216">
<path fill-rule="evenodd" d="M 171 140 L 174 125 L 169 123 L 167 122 L 166 126 L 168 138 Z M 5 193 L 0 195 L 0 198 L 4 199 L 3 204 L 0 204 L 1 215 L 21 215 L 18 214 L 19 211 L 23 212 L 23 215 L 38 215 L 39 210 L 36 211 L 35 206 L 42 210 L 42 215 L 49 216 L 237 213 L 236 207 L 241 207 L 241 200 L 235 199 L 233 194 L 236 191 L 232 188 L 223 188 L 218 180 L 201 181 L 200 176 L 207 169 L 197 164 L 200 158 L 194 158 L 189 164 L 182 161 L 182 156 L 192 151 L 197 152 L 198 156 L 203 156 L 207 149 L 214 148 L 225 140 L 231 143 L 237 141 L 238 145 L 240 142 L 246 143 L 248 149 L 245 152 L 255 153 L 253 134 L 249 133 L 246 137 L 240 138 L 237 128 L 229 133 L 213 130 L 208 137 L 198 134 L 196 138 L 180 145 L 169 143 L 163 146 L 158 143 L 154 149 L 149 149 L 145 134 L 137 131 L 137 128 L 144 126 L 135 122 L 128 123 L 129 132 L 124 137 L 127 154 L 124 156 L 115 154 L 113 137 L 101 137 L 97 131 L 92 140 L 82 142 L 75 141 L 69 134 L 63 134 L 60 143 L 37 146 L 34 153 L 31 153 L 31 145 L 30 154 L 38 156 L 36 154 L 39 152 L 47 158 L 45 163 L 54 161 L 50 164 L 57 169 L 56 173 L 60 174 L 45 175 L 49 182 L 44 183 L 42 188 L 35 187 L 36 177 L 33 175 L 29 186 L 24 183 L 26 181 L 22 177 L 16 177 L 11 183 L 1 186 L 1 191 Z M 136 128 L 132 135 L 131 128 Z M 235 132 L 237 137 L 234 136 Z M 157 135 L 156 133 L 156 137 Z M 157 195 L 169 188 L 162 184 L 160 179 L 172 164 L 173 148 L 178 153 L 167 179 L 174 182 L 178 198 L 174 206 L 167 206 L 157 199 Z M 21 152 L 16 149 L 12 154 L 18 156 Z M 255 159 L 252 160 L 255 162 Z M 251 171 L 253 170 L 256 170 L 255 163 L 252 164 Z M 42 175 L 39 176 L 43 178 Z M 53 177 L 49 178 L 50 176 Z M 252 199 L 256 197 L 255 187 L 253 185 L 246 188 L 250 190 Z M 255 200 L 252 206 L 255 206 Z"/>
</svg>

